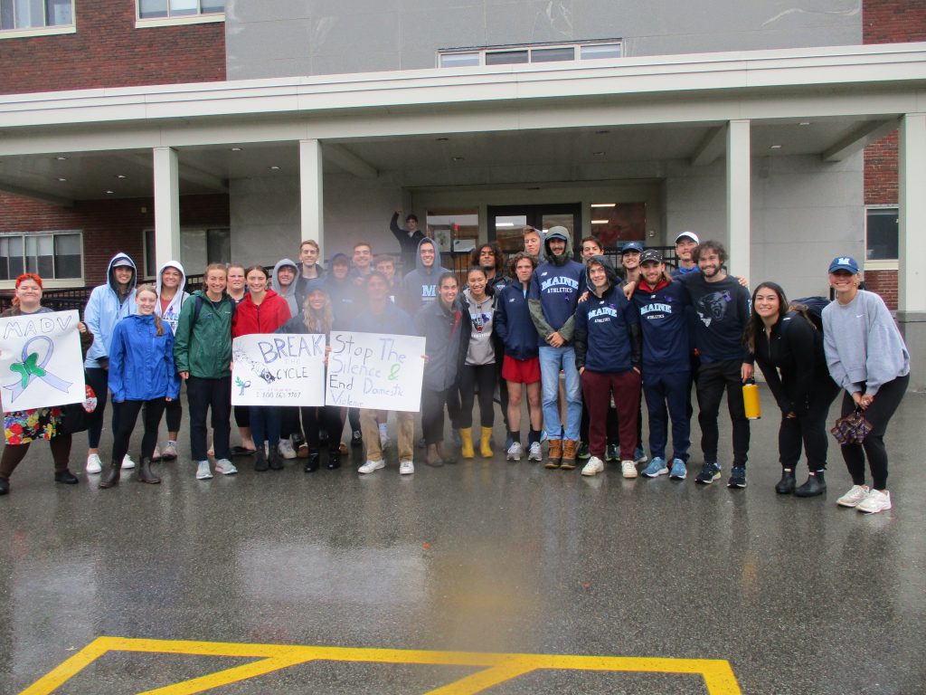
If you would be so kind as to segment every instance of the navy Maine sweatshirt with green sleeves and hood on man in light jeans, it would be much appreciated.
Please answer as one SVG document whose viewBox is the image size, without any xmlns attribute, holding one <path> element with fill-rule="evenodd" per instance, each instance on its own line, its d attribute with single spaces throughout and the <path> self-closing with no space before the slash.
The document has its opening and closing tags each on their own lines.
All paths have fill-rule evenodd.
<svg viewBox="0 0 926 695">
<path fill-rule="evenodd" d="M 562 239 L 566 248 L 559 256 L 550 250 L 551 239 Z M 554 227 L 544 239 L 546 261 L 537 266 L 531 278 L 528 306 L 537 329 L 540 347 L 553 333 L 562 335 L 567 344 L 575 330 L 575 310 L 585 291 L 585 267 L 572 260 L 572 240 L 565 227 Z"/>
</svg>

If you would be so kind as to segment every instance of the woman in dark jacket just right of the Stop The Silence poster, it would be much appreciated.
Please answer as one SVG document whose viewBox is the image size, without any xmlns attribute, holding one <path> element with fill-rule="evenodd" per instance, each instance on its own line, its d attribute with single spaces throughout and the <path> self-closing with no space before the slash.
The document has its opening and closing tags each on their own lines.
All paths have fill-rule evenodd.
<svg viewBox="0 0 926 695">
<path fill-rule="evenodd" d="M 469 317 L 457 306 L 458 291 L 457 275 L 442 273 L 437 282 L 437 301 L 415 315 L 418 333 L 427 341 L 421 385 L 421 429 L 428 447 L 425 462 L 435 467 L 454 462 L 444 454 L 444 407 L 448 395 L 458 387 L 469 341 L 469 328 L 464 324 Z"/>
</svg>

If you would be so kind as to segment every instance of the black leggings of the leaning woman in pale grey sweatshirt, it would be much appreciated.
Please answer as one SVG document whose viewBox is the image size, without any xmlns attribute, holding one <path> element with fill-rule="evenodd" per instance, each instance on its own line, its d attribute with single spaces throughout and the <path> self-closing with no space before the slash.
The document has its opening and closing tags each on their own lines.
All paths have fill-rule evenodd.
<svg viewBox="0 0 926 695">
<path fill-rule="evenodd" d="M 865 457 L 868 456 L 871 469 L 871 486 L 876 490 L 887 489 L 887 449 L 884 447 L 884 433 L 891 422 L 897 406 L 904 399 L 910 376 L 898 376 L 894 381 L 882 385 L 874 400 L 865 411 L 865 419 L 871 423 L 871 432 L 861 444 L 846 444 L 843 449 L 845 467 L 849 469 L 855 485 L 865 485 Z M 862 385 L 865 393 L 865 385 Z M 843 397 L 843 415 L 856 409 L 856 401 L 846 393 Z"/>
</svg>

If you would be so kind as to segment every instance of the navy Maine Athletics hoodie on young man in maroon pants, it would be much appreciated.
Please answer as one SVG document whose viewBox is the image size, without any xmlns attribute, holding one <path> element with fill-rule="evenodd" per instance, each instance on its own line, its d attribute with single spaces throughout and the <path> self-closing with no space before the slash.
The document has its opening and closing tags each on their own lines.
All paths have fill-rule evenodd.
<svg viewBox="0 0 926 695">
<path fill-rule="evenodd" d="M 601 297 L 589 292 L 576 310 L 576 367 L 598 373 L 628 372 L 640 364 L 639 316 L 624 297 L 618 273 L 604 256 L 593 256 L 601 263 L 609 283 Z M 591 287 L 591 278 L 588 284 Z"/>
</svg>

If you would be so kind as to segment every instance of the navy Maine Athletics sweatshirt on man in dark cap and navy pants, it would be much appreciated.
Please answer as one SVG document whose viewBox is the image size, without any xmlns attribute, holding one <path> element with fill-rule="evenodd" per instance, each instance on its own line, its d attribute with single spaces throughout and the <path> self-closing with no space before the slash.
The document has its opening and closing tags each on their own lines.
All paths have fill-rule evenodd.
<svg viewBox="0 0 926 695">
<path fill-rule="evenodd" d="M 688 372 L 691 299 L 682 284 L 661 280 L 651 287 L 641 281 L 632 301 L 643 334 L 643 373 Z"/>
</svg>

